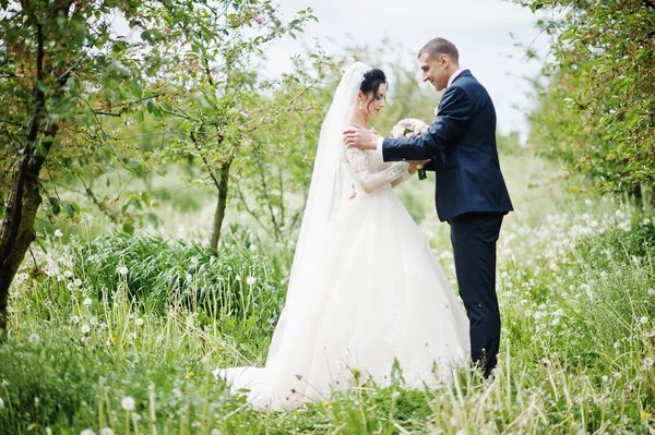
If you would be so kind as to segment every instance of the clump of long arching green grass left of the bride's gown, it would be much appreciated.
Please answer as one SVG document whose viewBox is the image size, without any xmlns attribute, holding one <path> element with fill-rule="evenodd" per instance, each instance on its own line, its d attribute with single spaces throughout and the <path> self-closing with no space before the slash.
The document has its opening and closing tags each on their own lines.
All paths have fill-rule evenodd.
<svg viewBox="0 0 655 435">
<path fill-rule="evenodd" d="M 257 255 L 259 240 L 238 226 L 225 231 L 218 253 L 183 239 L 120 232 L 71 247 L 74 274 L 84 276 L 98 297 L 102 291 L 114 295 L 124 276 L 129 295 L 158 314 L 177 303 L 212 317 L 276 318 L 284 298 L 281 263 Z"/>
</svg>

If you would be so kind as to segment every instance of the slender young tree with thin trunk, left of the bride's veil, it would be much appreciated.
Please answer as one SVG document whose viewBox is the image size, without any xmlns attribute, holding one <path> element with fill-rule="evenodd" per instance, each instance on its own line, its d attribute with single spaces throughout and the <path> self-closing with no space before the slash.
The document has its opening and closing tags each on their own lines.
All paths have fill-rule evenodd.
<svg viewBox="0 0 655 435">
<path fill-rule="evenodd" d="M 212 11 L 212 20 L 203 20 L 207 10 Z M 200 16 L 193 16 L 193 11 L 179 17 L 179 12 L 171 11 L 171 17 L 159 16 L 153 23 L 178 23 L 166 37 L 172 34 L 186 40 L 183 50 L 171 52 L 178 58 L 171 62 L 176 69 L 160 77 L 171 83 L 171 90 L 151 108 L 159 119 L 169 117 L 170 122 L 178 122 L 178 134 L 153 158 L 167 162 L 192 156 L 202 161 L 209 185 L 216 193 L 209 244 L 217 250 L 235 161 L 253 152 L 257 131 L 275 123 L 275 113 L 288 110 L 279 109 L 276 100 L 262 105 L 261 94 L 274 87 L 257 73 L 263 48 L 285 35 L 295 36 L 315 17 L 310 10 L 300 11 L 283 24 L 271 3 L 259 0 L 241 1 L 238 8 L 235 4 L 223 11 L 205 8 Z"/>
</svg>

